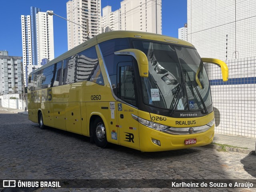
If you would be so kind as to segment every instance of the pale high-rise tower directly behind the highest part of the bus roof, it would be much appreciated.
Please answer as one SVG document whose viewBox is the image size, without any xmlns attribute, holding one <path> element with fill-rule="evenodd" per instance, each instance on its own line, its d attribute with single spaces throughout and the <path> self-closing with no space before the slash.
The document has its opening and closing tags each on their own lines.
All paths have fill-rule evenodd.
<svg viewBox="0 0 256 192">
<path fill-rule="evenodd" d="M 123 0 L 121 28 L 162 34 L 162 0 Z"/>
</svg>

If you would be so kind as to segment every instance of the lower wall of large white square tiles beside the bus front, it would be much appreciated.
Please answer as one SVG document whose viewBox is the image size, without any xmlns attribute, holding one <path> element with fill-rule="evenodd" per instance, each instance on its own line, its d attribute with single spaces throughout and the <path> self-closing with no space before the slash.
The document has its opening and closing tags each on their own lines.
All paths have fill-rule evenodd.
<svg viewBox="0 0 256 192">
<path fill-rule="evenodd" d="M 229 67 L 227 85 L 211 85 L 215 131 L 256 137 L 256 57 L 232 59 L 226 63 Z M 222 79 L 219 67 L 208 63 L 205 67 L 210 82 Z M 237 84 L 230 83 L 231 80 L 237 80 Z"/>
</svg>

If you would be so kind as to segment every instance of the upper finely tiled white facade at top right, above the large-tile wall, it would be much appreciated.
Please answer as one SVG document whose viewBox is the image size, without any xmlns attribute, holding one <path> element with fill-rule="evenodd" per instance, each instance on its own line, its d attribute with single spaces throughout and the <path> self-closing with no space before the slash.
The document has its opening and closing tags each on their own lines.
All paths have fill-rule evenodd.
<svg viewBox="0 0 256 192">
<path fill-rule="evenodd" d="M 201 57 L 256 56 L 256 0 L 188 0 L 187 14 L 188 42 Z"/>
</svg>

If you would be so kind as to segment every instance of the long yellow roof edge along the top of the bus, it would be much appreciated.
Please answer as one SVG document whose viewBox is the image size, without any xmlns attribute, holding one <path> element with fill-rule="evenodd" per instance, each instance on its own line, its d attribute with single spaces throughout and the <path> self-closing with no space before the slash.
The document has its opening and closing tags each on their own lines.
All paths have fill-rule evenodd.
<svg viewBox="0 0 256 192">
<path fill-rule="evenodd" d="M 75 55 L 76 53 L 79 53 L 80 51 L 83 51 L 84 49 L 90 48 L 92 46 L 95 46 L 101 42 L 116 39 L 116 38 L 138 38 L 138 39 L 147 39 L 147 40 L 155 40 L 160 42 L 169 42 L 172 44 L 177 45 L 184 45 L 184 46 L 194 46 L 190 44 L 189 42 L 186 42 L 184 40 L 180 40 L 177 38 L 172 38 L 169 36 L 164 36 L 160 34 L 154 34 L 154 33 L 148 33 L 148 32 L 136 32 L 136 31 L 111 31 L 111 32 L 105 32 L 102 34 L 98 34 L 97 36 L 87 40 L 86 42 L 76 46 L 75 48 L 70 49 L 69 51 L 63 53 L 62 55 L 56 57 L 55 59 L 52 59 L 42 67 L 36 69 L 32 73 L 35 73 L 36 71 L 40 71 L 41 69 L 44 69 L 48 67 L 49 65 L 52 65 L 54 63 L 57 63 L 59 61 L 62 61 L 68 57 L 71 57 L 72 55 Z"/>
</svg>

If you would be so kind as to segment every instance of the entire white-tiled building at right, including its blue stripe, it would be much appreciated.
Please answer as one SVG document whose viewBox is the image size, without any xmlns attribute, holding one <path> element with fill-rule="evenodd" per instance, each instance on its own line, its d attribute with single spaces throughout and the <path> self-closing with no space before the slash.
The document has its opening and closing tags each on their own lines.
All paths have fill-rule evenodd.
<svg viewBox="0 0 256 192">
<path fill-rule="evenodd" d="M 188 42 L 229 67 L 223 82 L 220 69 L 206 64 L 216 132 L 256 137 L 256 1 L 189 0 L 187 10 Z"/>
</svg>

